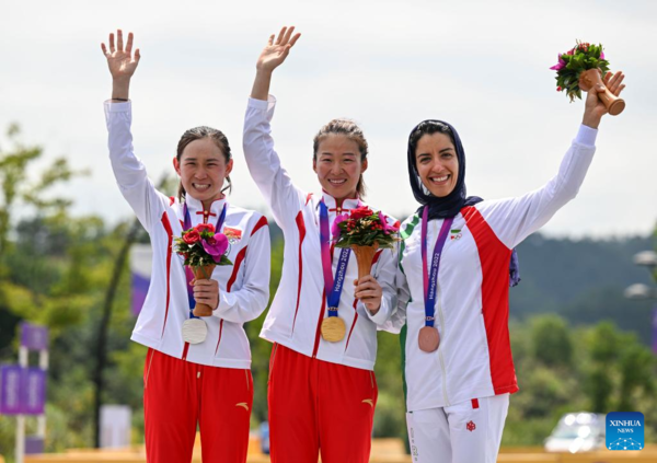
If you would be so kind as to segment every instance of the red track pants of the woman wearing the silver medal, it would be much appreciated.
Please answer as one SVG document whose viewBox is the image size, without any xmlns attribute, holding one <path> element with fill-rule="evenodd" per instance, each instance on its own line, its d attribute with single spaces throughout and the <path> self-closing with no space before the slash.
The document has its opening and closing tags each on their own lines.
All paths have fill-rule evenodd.
<svg viewBox="0 0 657 463">
<path fill-rule="evenodd" d="M 243 463 L 253 404 L 250 370 L 191 363 L 149 349 L 143 369 L 149 463 L 192 461 L 196 426 L 204 463 Z"/>
</svg>

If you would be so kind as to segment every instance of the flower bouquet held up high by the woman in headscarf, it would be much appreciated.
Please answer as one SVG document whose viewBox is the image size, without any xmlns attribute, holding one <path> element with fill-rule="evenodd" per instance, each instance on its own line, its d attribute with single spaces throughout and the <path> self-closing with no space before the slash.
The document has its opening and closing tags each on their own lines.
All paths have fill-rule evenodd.
<svg viewBox="0 0 657 463">
<path fill-rule="evenodd" d="M 558 62 L 552 70 L 556 71 L 556 91 L 566 92 L 570 102 L 575 96 L 581 99 L 581 91 L 588 92 L 597 84 L 602 84 L 602 76 L 609 71 L 609 61 L 604 59 L 602 45 L 591 45 L 577 40 L 577 45 L 564 54 L 558 54 Z M 625 108 L 625 102 L 606 89 L 598 97 L 612 116 Z"/>
</svg>

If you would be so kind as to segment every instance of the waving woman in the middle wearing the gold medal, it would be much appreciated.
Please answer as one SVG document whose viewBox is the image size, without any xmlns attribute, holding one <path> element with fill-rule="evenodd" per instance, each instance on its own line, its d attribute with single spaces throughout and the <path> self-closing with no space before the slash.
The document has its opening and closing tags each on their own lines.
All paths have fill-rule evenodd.
<svg viewBox="0 0 657 463">
<path fill-rule="evenodd" d="M 270 455 L 274 463 L 315 463 L 321 451 L 324 463 L 365 463 L 378 393 L 377 327 L 395 305 L 396 254 L 377 250 L 368 275 L 357 278 L 355 253 L 335 244 L 336 218 L 373 213 L 361 202 L 368 144 L 354 121 L 331 120 L 301 159 L 312 165 L 322 193 L 302 192 L 281 166 L 272 138 L 276 100 L 269 84 L 299 36 L 284 27 L 269 38 L 244 120 L 249 170 L 285 236 L 281 280 L 261 333 L 274 343 Z"/>
</svg>

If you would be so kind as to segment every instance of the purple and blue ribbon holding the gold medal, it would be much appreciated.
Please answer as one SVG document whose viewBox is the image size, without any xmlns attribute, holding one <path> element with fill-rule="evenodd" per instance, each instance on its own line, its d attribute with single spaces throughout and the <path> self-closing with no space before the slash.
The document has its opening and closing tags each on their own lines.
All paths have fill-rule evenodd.
<svg viewBox="0 0 657 463">
<path fill-rule="evenodd" d="M 331 236 L 328 234 L 328 209 L 324 200 L 320 202 L 320 245 L 322 250 L 322 270 L 324 273 L 324 292 L 326 293 L 326 304 L 328 316 L 337 316 L 337 306 L 339 305 L 339 294 L 343 283 L 347 276 L 347 264 L 351 250 L 344 247 L 339 253 L 335 278 L 331 274 Z"/>
</svg>

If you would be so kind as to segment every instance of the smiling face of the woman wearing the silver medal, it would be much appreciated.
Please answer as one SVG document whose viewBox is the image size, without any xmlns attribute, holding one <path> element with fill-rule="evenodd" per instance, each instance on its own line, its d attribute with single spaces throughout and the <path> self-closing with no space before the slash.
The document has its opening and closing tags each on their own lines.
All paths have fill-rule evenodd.
<svg viewBox="0 0 657 463">
<path fill-rule="evenodd" d="M 226 177 L 232 171 L 232 159 L 226 162 L 226 155 L 209 137 L 189 142 L 180 161 L 173 159 L 173 166 L 185 192 L 201 201 L 205 209 L 208 209 L 214 200 L 223 197 L 221 189 Z"/>
</svg>

